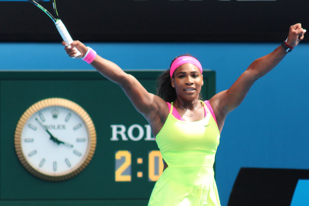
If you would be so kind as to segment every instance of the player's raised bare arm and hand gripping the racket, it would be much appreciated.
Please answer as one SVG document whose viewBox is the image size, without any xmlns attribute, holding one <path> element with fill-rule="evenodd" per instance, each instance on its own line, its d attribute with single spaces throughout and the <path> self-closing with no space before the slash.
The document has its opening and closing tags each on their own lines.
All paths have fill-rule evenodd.
<svg viewBox="0 0 309 206">
<path fill-rule="evenodd" d="M 73 49 L 75 46 L 81 53 L 77 58 L 83 57 L 88 50 L 80 41 L 74 41 L 70 45 L 67 45 L 65 42 L 62 42 L 62 44 L 66 46 L 65 50 L 70 57 L 73 57 L 76 53 Z M 163 99 L 149 93 L 136 78 L 125 73 L 115 63 L 96 55 L 91 65 L 104 77 L 118 84 L 124 90 L 134 107 L 145 116 L 153 127 L 155 127 L 155 121 L 161 119 L 160 116 L 164 116 L 165 113 L 168 114 L 167 104 Z"/>
</svg>

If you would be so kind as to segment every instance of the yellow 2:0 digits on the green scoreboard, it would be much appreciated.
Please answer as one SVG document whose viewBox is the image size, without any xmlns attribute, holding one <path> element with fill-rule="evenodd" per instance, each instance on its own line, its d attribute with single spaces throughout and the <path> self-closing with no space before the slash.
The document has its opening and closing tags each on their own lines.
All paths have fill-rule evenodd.
<svg viewBox="0 0 309 206">
<path fill-rule="evenodd" d="M 115 181 L 131 182 L 132 180 L 132 157 L 131 151 L 118 150 L 115 152 Z M 137 164 L 143 164 L 143 158 L 137 158 Z M 148 179 L 157 181 L 163 172 L 162 155 L 159 150 L 148 153 Z M 137 172 L 137 178 L 143 177 L 143 171 Z"/>
</svg>

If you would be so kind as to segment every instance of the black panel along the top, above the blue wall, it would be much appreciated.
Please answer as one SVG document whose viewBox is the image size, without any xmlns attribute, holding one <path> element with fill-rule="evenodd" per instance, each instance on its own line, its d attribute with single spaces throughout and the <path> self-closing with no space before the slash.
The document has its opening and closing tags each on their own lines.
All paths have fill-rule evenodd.
<svg viewBox="0 0 309 206">
<path fill-rule="evenodd" d="M 42 2 L 52 11 L 51 2 Z M 82 41 L 283 41 L 309 28 L 302 0 L 58 0 L 73 39 Z M 29 2 L 0 1 L 0 41 L 60 41 L 53 22 Z M 306 40 L 306 38 L 305 38 Z"/>
</svg>

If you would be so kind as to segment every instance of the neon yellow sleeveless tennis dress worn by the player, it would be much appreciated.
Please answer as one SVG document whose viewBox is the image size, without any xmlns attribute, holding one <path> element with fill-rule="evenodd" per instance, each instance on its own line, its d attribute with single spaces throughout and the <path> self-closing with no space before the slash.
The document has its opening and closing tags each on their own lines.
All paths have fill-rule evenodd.
<svg viewBox="0 0 309 206">
<path fill-rule="evenodd" d="M 173 103 L 172 103 L 173 105 Z M 151 193 L 148 206 L 219 206 L 214 158 L 220 132 L 209 109 L 204 119 L 187 122 L 172 115 L 156 142 L 168 167 Z"/>
</svg>

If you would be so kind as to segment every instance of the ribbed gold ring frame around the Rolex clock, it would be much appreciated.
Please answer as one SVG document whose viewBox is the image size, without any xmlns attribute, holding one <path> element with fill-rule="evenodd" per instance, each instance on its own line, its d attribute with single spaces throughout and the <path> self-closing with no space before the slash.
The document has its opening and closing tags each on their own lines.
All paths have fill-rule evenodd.
<svg viewBox="0 0 309 206">
<path fill-rule="evenodd" d="M 59 175 L 49 175 L 49 174 L 44 174 L 44 173 L 37 171 L 35 168 L 33 168 L 28 163 L 28 161 L 23 155 L 23 151 L 21 148 L 21 133 L 22 133 L 23 127 L 25 126 L 27 120 L 37 111 L 45 107 L 52 107 L 52 106 L 66 107 L 74 111 L 84 121 L 88 129 L 88 134 L 90 137 L 86 155 L 84 155 L 80 163 L 77 166 L 73 167 L 71 170 L 60 173 Z M 17 157 L 19 158 L 19 161 L 26 168 L 26 170 L 28 170 L 31 174 L 33 174 L 34 176 L 40 179 L 44 179 L 48 181 L 62 181 L 62 180 L 70 179 L 76 176 L 77 174 L 79 174 L 81 171 L 83 171 L 86 168 L 86 166 L 91 161 L 95 153 L 95 147 L 96 147 L 95 126 L 90 116 L 88 115 L 88 113 L 77 103 L 74 103 L 68 99 L 62 99 L 62 98 L 43 99 L 33 104 L 31 107 L 29 107 L 20 117 L 18 124 L 16 126 L 16 129 L 15 129 L 14 144 L 15 144 L 15 151 L 16 151 Z"/>
</svg>

